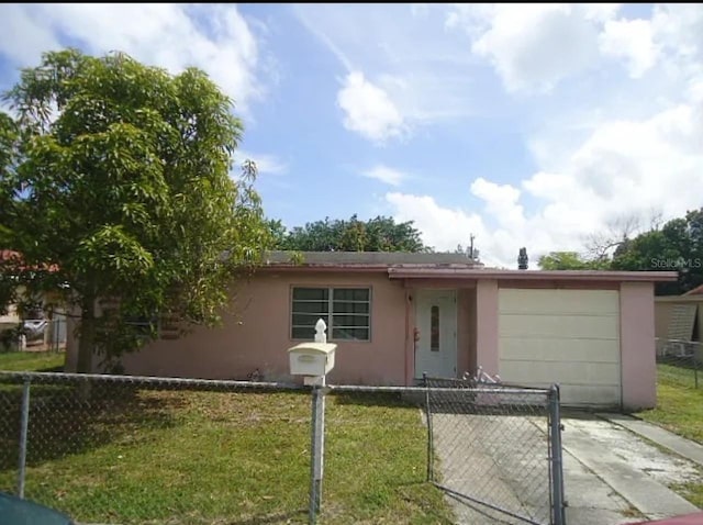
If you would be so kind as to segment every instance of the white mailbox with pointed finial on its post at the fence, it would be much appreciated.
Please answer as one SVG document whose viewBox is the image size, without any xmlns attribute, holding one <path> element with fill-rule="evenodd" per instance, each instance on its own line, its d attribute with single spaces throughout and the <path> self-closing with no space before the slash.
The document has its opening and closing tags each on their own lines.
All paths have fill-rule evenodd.
<svg viewBox="0 0 703 525">
<path fill-rule="evenodd" d="M 315 324 L 315 340 L 301 343 L 288 349 L 290 372 L 303 376 L 303 382 L 312 390 L 312 447 L 310 482 L 310 523 L 315 523 L 322 503 L 325 447 L 325 391 L 326 375 L 334 368 L 337 345 L 327 343 L 327 325 L 321 319 Z"/>
</svg>

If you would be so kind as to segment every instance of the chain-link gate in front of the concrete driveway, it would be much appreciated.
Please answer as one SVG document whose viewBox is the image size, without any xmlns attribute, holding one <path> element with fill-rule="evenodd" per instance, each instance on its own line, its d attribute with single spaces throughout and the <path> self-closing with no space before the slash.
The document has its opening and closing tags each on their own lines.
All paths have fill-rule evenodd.
<svg viewBox="0 0 703 525">
<path fill-rule="evenodd" d="M 563 525 L 559 389 L 424 378 L 427 479 L 459 523 Z"/>
</svg>

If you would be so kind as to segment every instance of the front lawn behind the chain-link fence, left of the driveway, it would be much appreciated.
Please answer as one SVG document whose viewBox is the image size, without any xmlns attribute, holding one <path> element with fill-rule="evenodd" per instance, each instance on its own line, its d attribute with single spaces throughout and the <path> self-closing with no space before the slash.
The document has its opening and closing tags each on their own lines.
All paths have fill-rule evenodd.
<svg viewBox="0 0 703 525">
<path fill-rule="evenodd" d="M 306 522 L 308 392 L 102 387 L 80 402 L 70 387 L 33 388 L 27 498 L 79 522 Z M 16 479 L 18 393 L 0 391 L 5 491 Z M 326 422 L 321 523 L 453 522 L 442 493 L 424 482 L 419 409 L 394 396 L 330 395 Z"/>
</svg>

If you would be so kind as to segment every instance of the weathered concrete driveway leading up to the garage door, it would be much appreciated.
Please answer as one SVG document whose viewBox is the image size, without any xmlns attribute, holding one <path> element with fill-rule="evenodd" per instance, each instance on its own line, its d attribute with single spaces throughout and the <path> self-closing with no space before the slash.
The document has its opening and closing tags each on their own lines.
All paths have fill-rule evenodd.
<svg viewBox="0 0 703 525">
<path fill-rule="evenodd" d="M 546 450 L 537 444 L 546 431 L 544 420 L 443 414 L 433 422 L 443 485 L 548 523 Z M 565 414 L 562 423 L 568 525 L 620 525 L 696 511 L 668 488 L 703 481 L 693 461 L 603 417 Z M 516 425 L 523 428 L 517 440 L 511 439 Z M 536 431 L 527 432 L 527 425 Z M 465 499 L 448 499 L 458 524 L 525 523 Z"/>
</svg>

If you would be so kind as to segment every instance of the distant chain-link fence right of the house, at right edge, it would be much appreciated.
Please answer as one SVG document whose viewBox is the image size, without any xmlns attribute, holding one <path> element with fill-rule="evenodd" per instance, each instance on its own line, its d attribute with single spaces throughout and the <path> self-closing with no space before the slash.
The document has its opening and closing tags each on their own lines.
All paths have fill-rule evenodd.
<svg viewBox="0 0 703 525">
<path fill-rule="evenodd" d="M 659 382 L 703 388 L 703 344 L 695 340 L 656 339 Z"/>
</svg>

